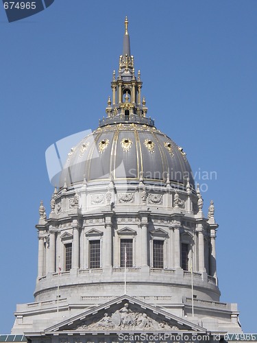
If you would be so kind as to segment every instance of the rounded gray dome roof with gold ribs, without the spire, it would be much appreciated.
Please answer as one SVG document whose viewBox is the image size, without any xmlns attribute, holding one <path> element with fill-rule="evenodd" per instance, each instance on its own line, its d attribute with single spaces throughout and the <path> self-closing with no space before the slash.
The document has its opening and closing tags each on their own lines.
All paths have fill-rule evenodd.
<svg viewBox="0 0 257 343">
<path fill-rule="evenodd" d="M 59 187 L 87 182 L 136 182 L 143 171 L 145 182 L 167 182 L 186 186 L 194 179 L 186 154 L 156 128 L 119 123 L 97 128 L 71 151 L 60 176 Z M 112 174 L 112 175 L 111 175 Z"/>
</svg>

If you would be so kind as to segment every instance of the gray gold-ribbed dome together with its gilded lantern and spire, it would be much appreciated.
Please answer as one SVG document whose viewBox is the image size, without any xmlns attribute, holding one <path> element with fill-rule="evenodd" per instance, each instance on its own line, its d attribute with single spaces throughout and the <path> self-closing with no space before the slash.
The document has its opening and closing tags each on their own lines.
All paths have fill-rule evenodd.
<svg viewBox="0 0 257 343">
<path fill-rule="evenodd" d="M 193 173 L 182 147 L 157 130 L 147 117 L 145 97 L 141 102 L 140 71 L 134 75 L 134 57 L 130 54 L 130 36 L 123 37 L 119 75 L 113 71 L 112 102 L 109 97 L 107 117 L 99 119 L 99 128 L 71 148 L 62 169 L 59 187 L 74 187 L 84 181 L 139 182 L 166 185 L 186 191 L 187 179 L 195 192 Z"/>
</svg>

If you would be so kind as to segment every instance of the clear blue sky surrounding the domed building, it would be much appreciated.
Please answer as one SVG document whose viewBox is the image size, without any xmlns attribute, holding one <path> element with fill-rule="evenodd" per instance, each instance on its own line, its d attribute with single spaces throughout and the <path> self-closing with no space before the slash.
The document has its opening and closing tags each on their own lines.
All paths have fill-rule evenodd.
<svg viewBox="0 0 257 343">
<path fill-rule="evenodd" d="M 34 300 L 34 226 L 53 193 L 45 150 L 106 115 L 125 16 L 147 114 L 206 184 L 205 215 L 215 203 L 221 301 L 256 332 L 257 1 L 56 0 L 14 23 L 0 6 L 0 333 Z"/>
</svg>

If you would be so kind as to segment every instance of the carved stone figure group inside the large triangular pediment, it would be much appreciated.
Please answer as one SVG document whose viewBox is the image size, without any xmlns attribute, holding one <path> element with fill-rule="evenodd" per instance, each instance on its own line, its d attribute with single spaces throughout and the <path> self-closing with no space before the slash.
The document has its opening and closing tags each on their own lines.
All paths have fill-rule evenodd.
<svg viewBox="0 0 257 343">
<path fill-rule="evenodd" d="M 166 321 L 160 321 L 147 316 L 144 312 L 133 311 L 129 308 L 129 304 L 125 303 L 121 309 L 103 316 L 96 316 L 95 318 L 84 322 L 82 325 L 76 327 L 77 331 L 88 330 L 147 330 L 147 329 L 162 329 L 162 330 L 178 330 L 178 327 L 169 325 Z"/>
</svg>

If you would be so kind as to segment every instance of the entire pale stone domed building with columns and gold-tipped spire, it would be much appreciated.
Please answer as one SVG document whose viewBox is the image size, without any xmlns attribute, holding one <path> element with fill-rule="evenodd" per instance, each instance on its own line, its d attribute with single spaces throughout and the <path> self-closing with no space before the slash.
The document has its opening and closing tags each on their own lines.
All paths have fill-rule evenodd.
<svg viewBox="0 0 257 343">
<path fill-rule="evenodd" d="M 40 204 L 35 301 L 12 328 L 34 342 L 241 333 L 219 302 L 213 202 L 204 217 L 186 153 L 147 117 L 127 24 L 106 117 L 71 148 L 48 217 Z"/>
</svg>

